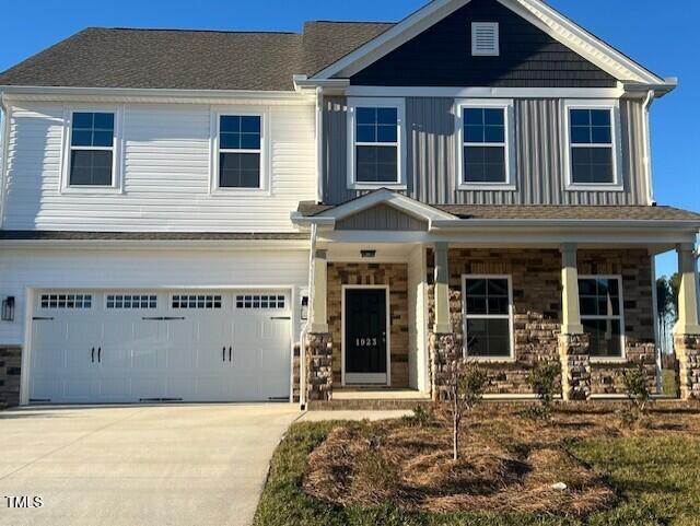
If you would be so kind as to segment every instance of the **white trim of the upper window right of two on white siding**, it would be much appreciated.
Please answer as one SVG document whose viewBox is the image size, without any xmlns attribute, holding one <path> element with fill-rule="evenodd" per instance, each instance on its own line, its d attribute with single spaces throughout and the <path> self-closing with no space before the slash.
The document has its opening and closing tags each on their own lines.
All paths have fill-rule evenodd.
<svg viewBox="0 0 700 526">
<path fill-rule="evenodd" d="M 244 116 L 260 117 L 260 149 L 259 150 L 224 150 L 224 152 L 260 153 L 260 185 L 257 188 L 222 187 L 219 185 L 219 128 L 221 117 Z M 254 106 L 215 106 L 210 110 L 210 173 L 209 192 L 211 195 L 258 194 L 271 195 L 271 163 L 270 163 L 270 113 L 268 108 Z"/>
</svg>

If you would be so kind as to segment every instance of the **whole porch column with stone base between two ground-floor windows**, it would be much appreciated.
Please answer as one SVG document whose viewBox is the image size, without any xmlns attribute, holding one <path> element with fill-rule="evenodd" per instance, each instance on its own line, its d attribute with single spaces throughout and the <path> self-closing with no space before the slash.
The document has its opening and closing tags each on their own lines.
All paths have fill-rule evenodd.
<svg viewBox="0 0 700 526">
<path fill-rule="evenodd" d="M 579 306 L 576 245 L 561 247 L 561 395 L 564 401 L 591 396 L 591 356 L 588 335 L 583 332 Z"/>
</svg>

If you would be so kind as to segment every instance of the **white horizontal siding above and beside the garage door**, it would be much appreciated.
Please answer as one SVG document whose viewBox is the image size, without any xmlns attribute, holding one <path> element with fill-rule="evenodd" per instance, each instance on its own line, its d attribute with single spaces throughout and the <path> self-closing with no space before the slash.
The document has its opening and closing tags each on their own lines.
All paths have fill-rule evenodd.
<svg viewBox="0 0 700 526">
<path fill-rule="evenodd" d="M 308 250 L 55 248 L 0 252 L 0 295 L 14 296 L 13 322 L 0 324 L 0 346 L 22 346 L 25 292 L 34 289 L 158 289 L 308 287 Z M 296 299 L 292 300 L 298 312 Z M 301 319 L 294 316 L 294 340 Z"/>
</svg>

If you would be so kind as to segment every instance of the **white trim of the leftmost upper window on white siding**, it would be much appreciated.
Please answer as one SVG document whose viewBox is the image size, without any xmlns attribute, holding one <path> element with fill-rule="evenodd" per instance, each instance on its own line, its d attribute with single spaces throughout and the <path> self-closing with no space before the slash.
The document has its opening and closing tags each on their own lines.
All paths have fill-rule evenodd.
<svg viewBox="0 0 700 526">
<path fill-rule="evenodd" d="M 72 151 L 71 136 L 73 130 L 74 113 L 107 113 L 114 114 L 114 143 L 112 145 L 112 185 L 79 185 L 70 184 L 70 153 Z M 60 194 L 122 194 L 124 176 L 124 106 L 63 106 L 62 155 L 59 192 Z M 103 147 L 75 147 L 77 150 L 108 150 Z"/>
</svg>

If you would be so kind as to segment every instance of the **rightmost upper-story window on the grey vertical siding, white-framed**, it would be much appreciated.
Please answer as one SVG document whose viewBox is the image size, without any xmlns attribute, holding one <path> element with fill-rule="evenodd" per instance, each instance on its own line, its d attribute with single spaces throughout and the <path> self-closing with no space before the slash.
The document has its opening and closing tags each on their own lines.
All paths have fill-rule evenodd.
<svg viewBox="0 0 700 526">
<path fill-rule="evenodd" d="M 570 189 L 622 189 L 617 105 L 567 103 Z"/>
</svg>

